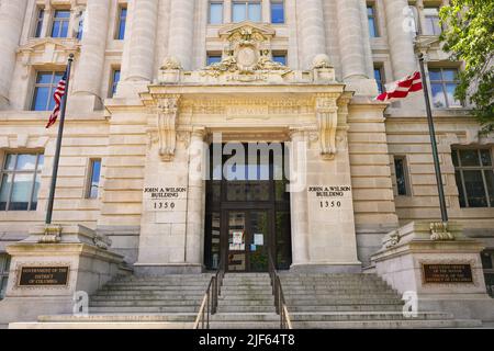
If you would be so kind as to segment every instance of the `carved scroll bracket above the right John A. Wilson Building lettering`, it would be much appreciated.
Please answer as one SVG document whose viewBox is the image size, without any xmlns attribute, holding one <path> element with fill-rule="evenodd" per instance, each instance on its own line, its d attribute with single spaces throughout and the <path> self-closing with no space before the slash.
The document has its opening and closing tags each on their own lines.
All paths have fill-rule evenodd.
<svg viewBox="0 0 494 351">
<path fill-rule="evenodd" d="M 321 95 L 316 99 L 316 116 L 319 129 L 321 155 L 332 160 L 337 152 L 336 132 L 338 127 L 338 106 L 336 97 Z"/>
</svg>

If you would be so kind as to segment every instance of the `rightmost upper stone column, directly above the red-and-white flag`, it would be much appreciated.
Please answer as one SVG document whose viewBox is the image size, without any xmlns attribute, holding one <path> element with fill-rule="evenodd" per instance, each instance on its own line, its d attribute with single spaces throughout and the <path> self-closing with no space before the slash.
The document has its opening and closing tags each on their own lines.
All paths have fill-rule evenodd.
<svg viewBox="0 0 494 351">
<path fill-rule="evenodd" d="M 408 2 L 406 0 L 384 0 L 383 3 L 393 76 L 397 80 L 417 69 L 413 44 L 414 33 L 404 27 L 406 18 L 403 10 L 408 7 Z"/>
</svg>

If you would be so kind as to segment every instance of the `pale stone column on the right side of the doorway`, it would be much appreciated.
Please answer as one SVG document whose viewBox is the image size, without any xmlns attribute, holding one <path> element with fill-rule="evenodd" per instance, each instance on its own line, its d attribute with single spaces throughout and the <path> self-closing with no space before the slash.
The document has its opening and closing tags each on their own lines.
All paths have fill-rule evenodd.
<svg viewBox="0 0 494 351">
<path fill-rule="evenodd" d="M 292 264 L 308 262 L 308 213 L 306 191 L 307 135 L 293 129 L 290 145 L 290 205 L 292 218 Z"/>
</svg>

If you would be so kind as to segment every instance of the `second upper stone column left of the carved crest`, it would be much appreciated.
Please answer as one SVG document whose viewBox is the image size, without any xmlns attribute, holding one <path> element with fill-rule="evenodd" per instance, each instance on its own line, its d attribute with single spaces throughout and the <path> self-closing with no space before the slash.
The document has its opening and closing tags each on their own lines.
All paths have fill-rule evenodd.
<svg viewBox="0 0 494 351">
<path fill-rule="evenodd" d="M 156 0 L 134 0 L 126 81 L 153 80 L 158 4 Z"/>
</svg>

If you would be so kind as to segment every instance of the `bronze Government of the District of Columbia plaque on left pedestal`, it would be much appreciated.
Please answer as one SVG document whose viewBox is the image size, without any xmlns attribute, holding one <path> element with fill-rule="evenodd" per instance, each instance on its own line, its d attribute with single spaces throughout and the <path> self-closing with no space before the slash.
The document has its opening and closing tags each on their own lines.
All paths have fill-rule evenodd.
<svg viewBox="0 0 494 351">
<path fill-rule="evenodd" d="M 66 286 L 70 267 L 23 267 L 19 286 Z"/>
</svg>

